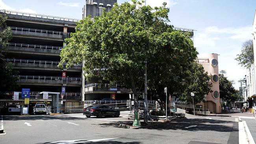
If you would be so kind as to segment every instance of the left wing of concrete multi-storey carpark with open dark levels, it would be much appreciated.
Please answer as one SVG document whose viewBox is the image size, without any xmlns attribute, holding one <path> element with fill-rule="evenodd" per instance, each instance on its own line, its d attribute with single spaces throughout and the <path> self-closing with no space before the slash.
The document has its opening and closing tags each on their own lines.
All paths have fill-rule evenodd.
<svg viewBox="0 0 256 144">
<path fill-rule="evenodd" d="M 17 84 L 19 100 L 13 100 L 12 92 L 1 92 L 1 108 L 7 105 L 24 105 L 21 98 L 23 88 L 30 89 L 32 102 L 47 102 L 52 105 L 54 94 L 43 100 L 40 92 L 59 92 L 64 95 L 63 106 L 79 105 L 81 102 L 82 66 L 69 69 L 58 68 L 60 51 L 66 46 L 65 38 L 75 32 L 76 19 L 52 17 L 1 10 L 7 15 L 6 24 L 11 28 L 13 37 L 4 51 L 5 61 L 12 62 L 19 71 Z"/>
</svg>

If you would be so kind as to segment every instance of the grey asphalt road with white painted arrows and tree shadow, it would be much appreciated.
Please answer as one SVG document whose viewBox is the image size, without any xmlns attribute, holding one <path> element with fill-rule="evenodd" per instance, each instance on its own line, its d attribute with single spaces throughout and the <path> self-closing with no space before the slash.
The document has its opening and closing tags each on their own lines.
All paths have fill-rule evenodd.
<svg viewBox="0 0 256 144">
<path fill-rule="evenodd" d="M 4 116 L 1 144 L 238 144 L 234 117 L 187 115 L 179 122 L 142 129 L 119 127 L 119 118 L 86 118 L 83 114 Z M 58 142 L 62 141 L 62 142 Z"/>
</svg>

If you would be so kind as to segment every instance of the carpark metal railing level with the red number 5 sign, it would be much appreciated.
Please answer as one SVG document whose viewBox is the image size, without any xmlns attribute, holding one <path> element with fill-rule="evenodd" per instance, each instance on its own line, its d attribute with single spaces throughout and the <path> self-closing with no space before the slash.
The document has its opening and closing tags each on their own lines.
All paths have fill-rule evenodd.
<svg viewBox="0 0 256 144">
<path fill-rule="evenodd" d="M 62 77 L 54 77 L 54 76 L 20 76 L 13 75 L 15 78 L 19 79 L 45 79 L 45 80 L 67 80 L 67 81 L 81 81 L 81 78 L 62 78 Z"/>
</svg>

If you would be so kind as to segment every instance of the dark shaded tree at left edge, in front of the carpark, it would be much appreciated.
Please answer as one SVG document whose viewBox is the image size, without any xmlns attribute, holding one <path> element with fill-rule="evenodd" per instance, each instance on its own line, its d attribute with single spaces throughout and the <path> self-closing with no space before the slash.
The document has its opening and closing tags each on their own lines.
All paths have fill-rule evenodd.
<svg viewBox="0 0 256 144">
<path fill-rule="evenodd" d="M 17 72 L 13 70 L 12 63 L 7 63 L 4 61 L 3 50 L 7 51 L 7 43 L 12 37 L 11 29 L 6 26 L 7 16 L 5 14 L 0 14 L 0 91 L 11 91 L 17 87 L 16 81 L 13 74 Z"/>
</svg>

